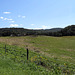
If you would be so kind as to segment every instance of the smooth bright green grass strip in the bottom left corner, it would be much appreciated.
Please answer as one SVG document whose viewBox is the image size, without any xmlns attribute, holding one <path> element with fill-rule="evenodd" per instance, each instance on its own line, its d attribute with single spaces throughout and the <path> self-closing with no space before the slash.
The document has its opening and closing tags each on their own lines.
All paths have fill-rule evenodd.
<svg viewBox="0 0 75 75">
<path fill-rule="evenodd" d="M 9 58 L 0 59 L 0 75 L 41 75 L 43 68 L 37 69 L 37 66 L 31 63 L 19 64 Z M 37 70 L 36 70 L 37 69 Z M 43 74 L 42 74 L 43 75 Z"/>
</svg>

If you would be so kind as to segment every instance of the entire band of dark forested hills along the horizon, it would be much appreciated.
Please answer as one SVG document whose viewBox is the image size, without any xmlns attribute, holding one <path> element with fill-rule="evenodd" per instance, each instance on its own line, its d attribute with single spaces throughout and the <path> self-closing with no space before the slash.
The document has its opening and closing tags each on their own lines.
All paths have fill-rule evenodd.
<svg viewBox="0 0 75 75">
<path fill-rule="evenodd" d="M 75 25 L 65 28 L 52 29 L 24 29 L 24 28 L 0 28 L 0 36 L 26 36 L 26 35 L 47 35 L 47 36 L 75 36 Z"/>
</svg>

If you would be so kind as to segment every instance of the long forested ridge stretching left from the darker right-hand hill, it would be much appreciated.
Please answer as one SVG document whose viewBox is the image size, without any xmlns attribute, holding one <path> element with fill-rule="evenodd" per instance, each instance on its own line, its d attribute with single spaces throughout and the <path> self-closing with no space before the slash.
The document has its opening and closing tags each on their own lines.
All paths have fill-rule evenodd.
<svg viewBox="0 0 75 75">
<path fill-rule="evenodd" d="M 0 28 L 0 36 L 25 36 L 25 35 L 47 35 L 49 32 L 60 31 L 61 28 L 53 29 L 24 29 L 24 28 Z"/>
</svg>

